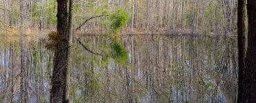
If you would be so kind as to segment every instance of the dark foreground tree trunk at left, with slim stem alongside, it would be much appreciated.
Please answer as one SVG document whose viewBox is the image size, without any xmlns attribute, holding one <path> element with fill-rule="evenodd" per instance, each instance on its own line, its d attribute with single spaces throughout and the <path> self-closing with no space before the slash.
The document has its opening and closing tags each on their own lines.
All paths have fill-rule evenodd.
<svg viewBox="0 0 256 103">
<path fill-rule="evenodd" d="M 71 5 L 72 5 L 72 0 Z M 57 35 L 62 36 L 63 41 L 56 45 L 51 102 L 68 102 L 67 76 L 68 76 L 68 51 L 69 51 L 69 31 L 71 22 L 68 22 L 68 0 L 57 0 Z M 72 8 L 72 7 L 70 7 Z M 69 11 L 69 21 L 72 19 L 71 10 Z"/>
</svg>

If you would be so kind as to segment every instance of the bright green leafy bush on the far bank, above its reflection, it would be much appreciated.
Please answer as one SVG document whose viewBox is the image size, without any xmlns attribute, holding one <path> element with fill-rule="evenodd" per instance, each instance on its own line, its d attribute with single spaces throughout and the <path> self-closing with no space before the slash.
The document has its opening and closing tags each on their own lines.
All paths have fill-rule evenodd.
<svg viewBox="0 0 256 103">
<path fill-rule="evenodd" d="M 111 15 L 111 32 L 113 32 L 113 34 L 118 33 L 122 28 L 122 25 L 125 25 L 128 17 L 128 13 L 124 10 L 118 10 L 117 12 L 113 13 Z"/>
</svg>

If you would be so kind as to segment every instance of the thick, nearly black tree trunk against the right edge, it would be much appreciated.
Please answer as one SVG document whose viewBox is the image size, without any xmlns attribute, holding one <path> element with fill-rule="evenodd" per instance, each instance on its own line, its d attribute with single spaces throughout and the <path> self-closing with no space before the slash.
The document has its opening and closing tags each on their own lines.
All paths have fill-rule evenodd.
<svg viewBox="0 0 256 103">
<path fill-rule="evenodd" d="M 256 1 L 248 0 L 248 48 L 240 103 L 256 102 Z"/>
</svg>

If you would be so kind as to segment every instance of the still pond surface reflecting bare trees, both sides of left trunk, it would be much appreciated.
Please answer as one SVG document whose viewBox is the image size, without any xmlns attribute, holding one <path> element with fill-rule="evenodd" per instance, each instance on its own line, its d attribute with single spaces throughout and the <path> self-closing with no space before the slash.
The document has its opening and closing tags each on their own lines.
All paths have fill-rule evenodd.
<svg viewBox="0 0 256 103">
<path fill-rule="evenodd" d="M 93 55 L 77 43 L 71 47 L 71 102 L 236 102 L 234 38 L 117 39 L 127 50 L 128 62 Z M 1 102 L 49 102 L 53 52 L 42 41 L 1 41 Z M 109 52 L 108 37 L 86 36 L 81 41 L 93 52 Z"/>
</svg>

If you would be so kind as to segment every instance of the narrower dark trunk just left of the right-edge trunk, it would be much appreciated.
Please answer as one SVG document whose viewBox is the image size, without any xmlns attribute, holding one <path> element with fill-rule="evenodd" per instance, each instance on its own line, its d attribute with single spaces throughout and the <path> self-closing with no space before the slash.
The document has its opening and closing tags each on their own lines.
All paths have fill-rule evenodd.
<svg viewBox="0 0 256 103">
<path fill-rule="evenodd" d="M 241 100 L 241 91 L 243 90 L 244 62 L 246 57 L 246 0 L 238 0 L 237 10 L 237 44 L 238 44 L 238 95 Z"/>
</svg>

